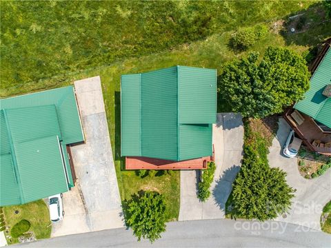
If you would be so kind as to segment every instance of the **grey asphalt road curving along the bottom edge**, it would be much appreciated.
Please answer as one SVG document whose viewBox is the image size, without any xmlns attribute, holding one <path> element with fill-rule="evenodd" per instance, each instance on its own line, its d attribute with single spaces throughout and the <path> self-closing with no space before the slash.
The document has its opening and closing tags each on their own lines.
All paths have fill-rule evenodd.
<svg viewBox="0 0 331 248">
<path fill-rule="evenodd" d="M 15 247 L 331 247 L 331 235 L 290 223 L 192 220 L 168 223 L 152 245 L 123 228 L 40 240 Z"/>
</svg>

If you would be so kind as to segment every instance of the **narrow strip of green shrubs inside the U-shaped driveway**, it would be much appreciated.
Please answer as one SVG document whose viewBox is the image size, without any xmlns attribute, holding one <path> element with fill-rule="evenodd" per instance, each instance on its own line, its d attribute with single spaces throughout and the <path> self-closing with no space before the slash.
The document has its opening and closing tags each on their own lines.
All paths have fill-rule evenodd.
<svg viewBox="0 0 331 248">
<path fill-rule="evenodd" d="M 203 171 L 202 181 L 199 183 L 198 187 L 198 198 L 204 202 L 210 197 L 210 185 L 214 180 L 214 173 L 216 170 L 216 165 L 214 162 L 209 162 L 207 169 Z"/>
</svg>

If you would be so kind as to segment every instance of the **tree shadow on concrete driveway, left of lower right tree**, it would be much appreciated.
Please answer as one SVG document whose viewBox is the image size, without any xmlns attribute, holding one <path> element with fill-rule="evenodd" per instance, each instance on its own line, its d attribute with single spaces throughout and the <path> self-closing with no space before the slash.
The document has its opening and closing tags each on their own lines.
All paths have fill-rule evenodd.
<svg viewBox="0 0 331 248">
<path fill-rule="evenodd" d="M 240 171 L 239 165 L 232 165 L 223 172 L 223 175 L 216 181 L 216 185 L 212 190 L 212 196 L 219 209 L 225 212 L 225 204 L 232 192 L 232 183 Z"/>
</svg>

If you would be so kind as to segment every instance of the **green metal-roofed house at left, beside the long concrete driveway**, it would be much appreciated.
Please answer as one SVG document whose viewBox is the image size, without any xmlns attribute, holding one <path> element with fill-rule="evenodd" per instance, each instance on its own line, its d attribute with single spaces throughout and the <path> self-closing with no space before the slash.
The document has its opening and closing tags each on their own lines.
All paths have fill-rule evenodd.
<svg viewBox="0 0 331 248">
<path fill-rule="evenodd" d="M 74 187 L 68 145 L 84 136 L 72 86 L 1 99 L 0 121 L 0 206 Z"/>
</svg>

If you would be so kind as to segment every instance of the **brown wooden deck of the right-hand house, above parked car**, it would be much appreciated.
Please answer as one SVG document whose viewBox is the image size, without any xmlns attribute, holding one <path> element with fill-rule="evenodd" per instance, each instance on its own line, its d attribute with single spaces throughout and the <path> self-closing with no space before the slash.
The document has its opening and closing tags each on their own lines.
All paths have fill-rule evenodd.
<svg viewBox="0 0 331 248">
<path fill-rule="evenodd" d="M 310 116 L 292 107 L 283 116 L 311 151 L 331 156 L 331 133 L 323 132 Z"/>
</svg>

